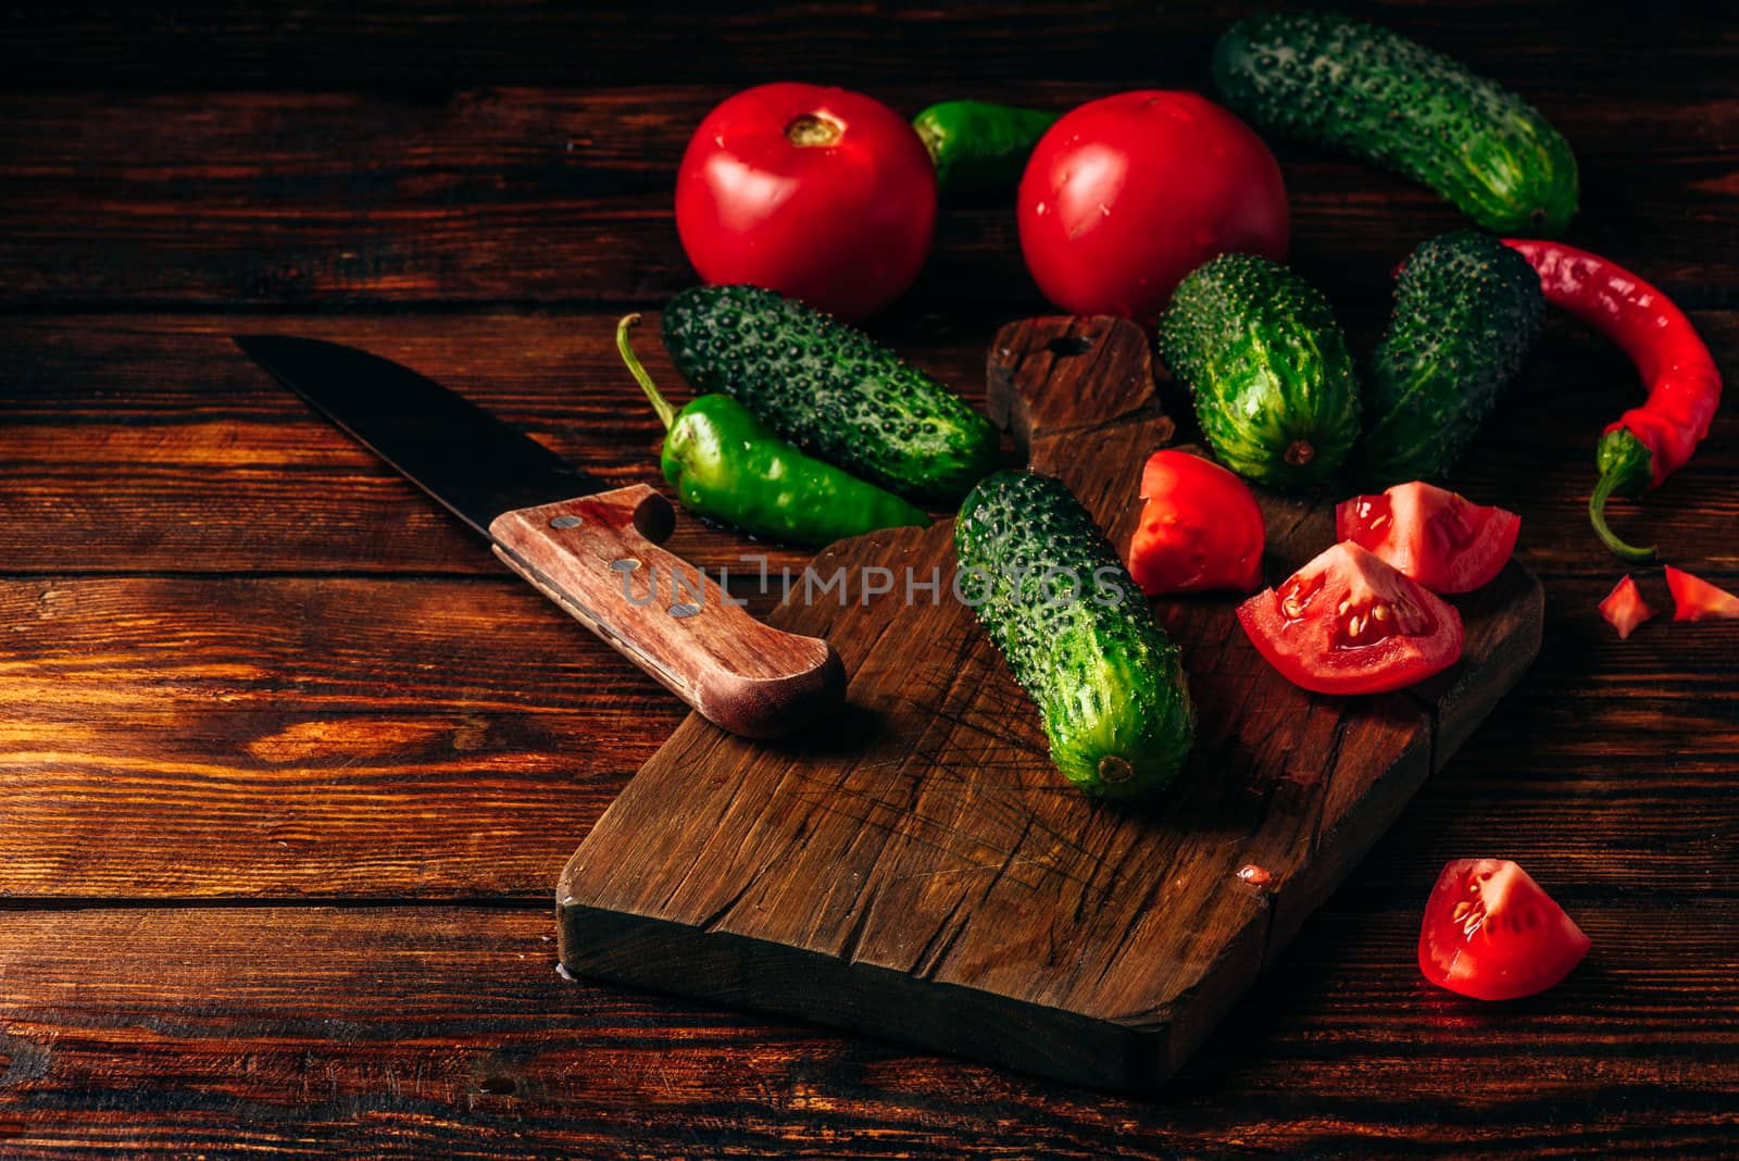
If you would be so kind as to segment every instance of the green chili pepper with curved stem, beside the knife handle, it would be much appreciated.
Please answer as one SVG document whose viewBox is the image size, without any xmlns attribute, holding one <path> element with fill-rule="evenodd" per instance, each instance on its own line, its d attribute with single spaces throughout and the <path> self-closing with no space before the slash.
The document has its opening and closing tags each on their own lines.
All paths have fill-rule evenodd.
<svg viewBox="0 0 1739 1161">
<path fill-rule="evenodd" d="M 814 546 L 930 523 L 892 492 L 791 447 L 729 395 L 701 395 L 673 412 L 628 346 L 638 323 L 628 315 L 616 325 L 616 349 L 664 421 L 661 466 L 685 508 L 753 535 Z"/>
</svg>

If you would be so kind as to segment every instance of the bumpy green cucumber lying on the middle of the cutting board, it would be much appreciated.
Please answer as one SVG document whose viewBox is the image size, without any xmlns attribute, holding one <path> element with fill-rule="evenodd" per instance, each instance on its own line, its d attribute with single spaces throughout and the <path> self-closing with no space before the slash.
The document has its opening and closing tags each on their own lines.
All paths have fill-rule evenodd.
<svg viewBox="0 0 1739 1161">
<path fill-rule="evenodd" d="M 984 598 L 977 617 L 1036 702 L 1063 777 L 1104 798 L 1165 789 L 1195 742 L 1183 655 L 1068 487 L 988 476 L 960 506 L 955 549 L 962 593 Z M 1056 568 L 1068 572 L 1047 589 Z M 1054 600 L 1071 577 L 1076 600 Z"/>
</svg>

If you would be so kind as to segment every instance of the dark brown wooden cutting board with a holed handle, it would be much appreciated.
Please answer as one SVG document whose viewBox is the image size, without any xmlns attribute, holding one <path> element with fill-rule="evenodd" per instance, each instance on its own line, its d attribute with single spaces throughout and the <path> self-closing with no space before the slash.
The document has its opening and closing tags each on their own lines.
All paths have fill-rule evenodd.
<svg viewBox="0 0 1739 1161">
<path fill-rule="evenodd" d="M 1141 330 L 1005 327 L 989 393 L 1031 468 L 1125 547 L 1141 466 L 1172 436 Z M 1269 582 L 1334 542 L 1330 502 L 1261 502 Z M 1125 1091 L 1202 1043 L 1541 638 L 1541 587 L 1511 563 L 1456 600 L 1459 666 L 1323 697 L 1268 667 L 1233 598 L 1156 601 L 1200 733 L 1177 787 L 1129 808 L 1052 770 L 1036 711 L 948 593 L 951 521 L 843 541 L 812 574 L 842 568 L 807 600 L 796 580 L 774 622 L 833 643 L 845 716 L 767 744 L 690 714 L 562 874 L 562 963 Z M 868 594 L 876 568 L 890 593 Z"/>
</svg>

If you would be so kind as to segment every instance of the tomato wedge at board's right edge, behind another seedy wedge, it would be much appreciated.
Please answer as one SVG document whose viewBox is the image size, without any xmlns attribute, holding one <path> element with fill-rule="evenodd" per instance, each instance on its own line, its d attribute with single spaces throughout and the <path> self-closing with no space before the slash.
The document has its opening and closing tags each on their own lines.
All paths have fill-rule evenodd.
<svg viewBox="0 0 1739 1161">
<path fill-rule="evenodd" d="M 1489 584 L 1516 547 L 1522 518 L 1414 480 L 1334 509 L 1334 534 L 1356 541 L 1433 593 Z"/>
</svg>

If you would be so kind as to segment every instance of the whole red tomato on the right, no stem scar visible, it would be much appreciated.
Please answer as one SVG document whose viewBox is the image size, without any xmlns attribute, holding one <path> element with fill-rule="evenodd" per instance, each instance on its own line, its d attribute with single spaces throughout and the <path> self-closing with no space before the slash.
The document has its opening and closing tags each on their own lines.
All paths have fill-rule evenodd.
<svg viewBox="0 0 1739 1161">
<path fill-rule="evenodd" d="M 1021 250 L 1073 315 L 1151 322 L 1219 254 L 1287 255 L 1280 163 L 1243 122 L 1193 92 L 1101 97 L 1040 139 L 1021 177 Z"/>
</svg>

